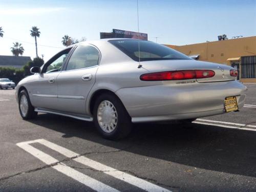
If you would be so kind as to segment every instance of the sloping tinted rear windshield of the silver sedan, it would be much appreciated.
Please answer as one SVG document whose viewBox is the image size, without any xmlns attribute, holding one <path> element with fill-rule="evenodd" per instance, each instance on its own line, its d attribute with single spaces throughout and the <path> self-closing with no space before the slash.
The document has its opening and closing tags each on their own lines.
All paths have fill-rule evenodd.
<svg viewBox="0 0 256 192">
<path fill-rule="evenodd" d="M 139 55 L 140 61 L 191 59 L 178 51 L 175 51 L 164 45 L 160 45 L 152 41 L 123 39 L 109 40 L 109 42 L 135 61 L 139 61 Z"/>
</svg>

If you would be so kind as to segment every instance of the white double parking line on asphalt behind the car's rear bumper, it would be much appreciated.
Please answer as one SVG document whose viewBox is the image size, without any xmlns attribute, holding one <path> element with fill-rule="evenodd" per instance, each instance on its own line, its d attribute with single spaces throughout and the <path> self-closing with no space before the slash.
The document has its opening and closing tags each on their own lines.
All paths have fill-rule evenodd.
<svg viewBox="0 0 256 192">
<path fill-rule="evenodd" d="M 256 131 L 256 125 L 246 125 L 246 124 L 232 123 L 232 122 L 226 122 L 226 121 L 215 121 L 215 120 L 208 120 L 208 119 L 197 119 L 197 120 L 193 121 L 193 123 L 205 124 L 205 125 L 213 125 L 213 126 L 221 126 L 221 127 L 225 127 L 225 128 L 229 128 L 229 129 Z M 220 123 L 220 124 L 218 124 L 218 123 Z M 232 125 L 236 125 L 236 126 L 232 126 Z M 250 129 L 248 127 L 252 127 L 252 128 L 255 128 L 255 129 Z"/>
</svg>

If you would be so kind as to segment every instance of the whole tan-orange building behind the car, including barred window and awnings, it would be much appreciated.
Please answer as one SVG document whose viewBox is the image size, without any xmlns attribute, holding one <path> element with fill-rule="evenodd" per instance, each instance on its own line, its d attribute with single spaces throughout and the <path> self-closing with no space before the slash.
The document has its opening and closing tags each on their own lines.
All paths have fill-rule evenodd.
<svg viewBox="0 0 256 192">
<path fill-rule="evenodd" d="M 256 36 L 185 46 L 166 46 L 197 60 L 232 66 L 239 70 L 240 81 L 256 82 Z"/>
</svg>

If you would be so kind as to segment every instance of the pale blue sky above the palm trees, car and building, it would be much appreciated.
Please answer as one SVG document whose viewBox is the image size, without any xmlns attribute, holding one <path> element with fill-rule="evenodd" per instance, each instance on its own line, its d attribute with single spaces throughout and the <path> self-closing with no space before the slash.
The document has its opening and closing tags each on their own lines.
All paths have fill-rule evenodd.
<svg viewBox="0 0 256 192">
<path fill-rule="evenodd" d="M 139 0 L 140 32 L 161 44 L 187 45 L 217 36 L 256 35 L 256 0 L 143 1 Z M 99 39 L 112 29 L 137 31 L 137 1 L 3 1 L 0 0 L 0 55 L 11 55 L 12 42 L 35 57 L 29 30 L 40 29 L 38 54 L 49 59 L 63 48 L 61 37 Z M 45 47 L 50 46 L 50 47 Z"/>
</svg>

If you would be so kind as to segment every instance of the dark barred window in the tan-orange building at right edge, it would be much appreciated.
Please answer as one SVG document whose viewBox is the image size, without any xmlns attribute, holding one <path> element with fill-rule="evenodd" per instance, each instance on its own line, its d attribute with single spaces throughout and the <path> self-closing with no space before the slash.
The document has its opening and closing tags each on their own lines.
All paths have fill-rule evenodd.
<svg viewBox="0 0 256 192">
<path fill-rule="evenodd" d="M 241 57 L 242 78 L 256 78 L 256 56 Z"/>
</svg>

